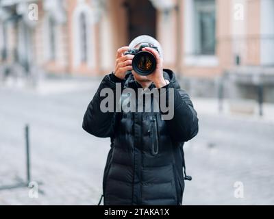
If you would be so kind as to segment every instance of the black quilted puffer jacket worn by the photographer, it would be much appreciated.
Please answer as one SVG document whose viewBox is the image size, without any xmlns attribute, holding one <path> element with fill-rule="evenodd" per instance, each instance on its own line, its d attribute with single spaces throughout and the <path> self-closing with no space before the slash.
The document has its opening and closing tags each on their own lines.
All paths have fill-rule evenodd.
<svg viewBox="0 0 274 219">
<path fill-rule="evenodd" d="M 103 176 L 105 205 L 180 205 L 184 192 L 184 142 L 198 133 L 197 113 L 171 70 L 164 77 L 175 88 L 174 117 L 162 120 L 160 113 L 106 112 L 100 110 L 105 97 L 103 88 L 141 88 L 132 74 L 125 80 L 106 75 L 84 115 L 83 128 L 88 133 L 111 138 Z M 150 88 L 153 88 L 153 84 Z M 160 89 L 161 92 L 164 90 Z M 114 92 L 115 93 L 115 92 Z M 169 96 L 166 95 L 166 98 Z"/>
</svg>

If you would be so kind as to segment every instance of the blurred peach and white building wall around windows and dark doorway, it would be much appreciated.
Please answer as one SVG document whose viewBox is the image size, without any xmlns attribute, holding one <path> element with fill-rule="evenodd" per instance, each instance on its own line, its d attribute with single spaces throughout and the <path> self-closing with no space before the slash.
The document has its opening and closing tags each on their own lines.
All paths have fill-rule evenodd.
<svg viewBox="0 0 274 219">
<path fill-rule="evenodd" d="M 150 0 L 147 0 L 150 1 Z M 195 0 L 170 0 L 178 8 L 168 13 L 156 10 L 156 38 L 164 50 L 164 68 L 184 76 L 216 77 L 235 66 L 236 56 L 241 65 L 274 64 L 273 38 L 274 0 L 215 0 L 215 55 L 193 53 L 193 3 Z M 152 2 L 152 0 L 151 0 Z M 66 19 L 55 25 L 55 60 L 49 59 L 50 12 L 45 1 L 38 0 L 39 20 L 32 30 L 34 62 L 51 73 L 73 75 L 103 75 L 114 70 L 116 50 L 129 43 L 129 24 L 125 0 L 107 0 L 101 16 L 95 21 L 97 5 L 90 0 L 66 0 Z M 242 5 L 243 17 L 237 18 Z M 75 17 L 85 12 L 88 19 L 88 61 L 79 62 L 79 25 Z M 274 26 L 274 25 L 273 25 Z M 17 27 L 8 25 L 8 52 L 16 47 Z M 78 35 L 77 35 L 78 34 Z M 271 35 L 272 34 L 272 35 Z M 77 56 L 78 55 L 78 56 Z M 12 56 L 9 55 L 11 59 Z"/>
</svg>

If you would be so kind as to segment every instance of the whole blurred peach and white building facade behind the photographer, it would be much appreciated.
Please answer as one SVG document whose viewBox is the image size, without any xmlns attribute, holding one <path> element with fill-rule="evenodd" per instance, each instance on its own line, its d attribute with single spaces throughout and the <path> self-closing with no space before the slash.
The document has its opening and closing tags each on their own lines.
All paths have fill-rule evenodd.
<svg viewBox="0 0 274 219">
<path fill-rule="evenodd" d="M 229 70 L 247 86 L 273 86 L 274 0 L 0 1 L 2 68 L 102 75 L 113 70 L 116 50 L 141 34 L 161 42 L 164 67 L 197 92 L 215 89 Z"/>
</svg>

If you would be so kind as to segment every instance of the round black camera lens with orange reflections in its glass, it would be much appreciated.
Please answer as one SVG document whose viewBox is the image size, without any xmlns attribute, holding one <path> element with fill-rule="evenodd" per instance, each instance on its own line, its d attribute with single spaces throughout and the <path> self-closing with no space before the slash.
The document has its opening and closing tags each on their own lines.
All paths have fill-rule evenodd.
<svg viewBox="0 0 274 219">
<path fill-rule="evenodd" d="M 156 60 L 149 51 L 140 51 L 132 60 L 132 67 L 139 75 L 150 75 L 156 68 Z"/>
</svg>

